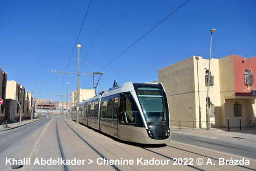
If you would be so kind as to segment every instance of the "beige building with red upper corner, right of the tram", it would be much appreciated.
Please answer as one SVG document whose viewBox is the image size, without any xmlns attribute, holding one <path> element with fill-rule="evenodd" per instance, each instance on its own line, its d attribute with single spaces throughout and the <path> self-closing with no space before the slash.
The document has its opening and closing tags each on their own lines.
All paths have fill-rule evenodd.
<svg viewBox="0 0 256 171">
<path fill-rule="evenodd" d="M 183 126 L 206 127 L 206 97 L 209 82 L 209 113 L 211 127 L 242 127 L 255 123 L 256 89 L 253 73 L 256 73 L 256 58 L 230 55 L 221 59 L 191 56 L 181 62 L 158 70 L 158 80 L 166 90 L 169 100 L 170 119 Z M 255 86 L 254 86 L 255 87 Z M 256 88 L 256 87 L 255 87 Z M 189 124 L 189 125 L 188 125 Z M 194 125 L 194 126 L 195 126 Z"/>
</svg>

